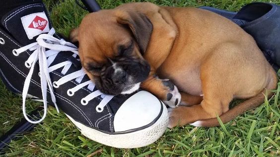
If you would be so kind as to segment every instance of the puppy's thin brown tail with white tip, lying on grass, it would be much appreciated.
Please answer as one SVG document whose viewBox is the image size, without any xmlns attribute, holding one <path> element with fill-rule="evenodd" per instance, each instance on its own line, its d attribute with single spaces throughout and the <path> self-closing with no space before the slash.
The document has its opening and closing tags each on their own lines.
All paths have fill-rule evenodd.
<svg viewBox="0 0 280 157">
<path fill-rule="evenodd" d="M 227 112 L 225 112 L 224 114 L 219 116 L 222 123 L 229 122 L 230 120 L 232 120 L 235 117 L 237 117 L 238 115 L 246 112 L 247 110 L 256 108 L 259 105 L 261 105 L 264 102 L 266 91 L 268 92 L 268 99 L 271 98 L 274 95 L 274 93 L 270 92 L 270 90 L 276 89 L 277 82 L 278 82 L 278 78 L 275 74 L 275 71 L 271 67 L 270 68 L 270 81 L 269 81 L 267 87 L 261 93 L 257 94 L 255 97 L 252 97 L 252 98 L 246 100 L 245 102 L 240 103 L 239 105 L 229 109 Z M 219 126 L 220 124 L 219 124 L 217 118 L 211 118 L 211 119 L 207 119 L 207 120 L 196 121 L 196 122 L 192 123 L 191 125 L 202 126 L 202 127 L 213 127 L 213 126 Z"/>
</svg>

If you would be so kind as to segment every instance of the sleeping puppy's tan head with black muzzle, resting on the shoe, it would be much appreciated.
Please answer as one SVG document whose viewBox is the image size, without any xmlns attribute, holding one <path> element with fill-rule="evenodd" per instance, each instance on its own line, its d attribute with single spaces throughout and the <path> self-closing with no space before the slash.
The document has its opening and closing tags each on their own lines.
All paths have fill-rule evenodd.
<svg viewBox="0 0 280 157">
<path fill-rule="evenodd" d="M 86 15 L 70 33 L 79 44 L 79 56 L 87 75 L 103 93 L 129 94 L 139 89 L 150 66 L 142 57 L 152 24 L 142 13 L 101 10 Z"/>
</svg>

